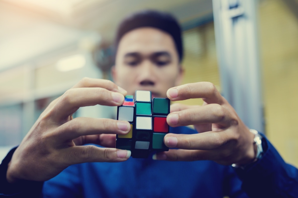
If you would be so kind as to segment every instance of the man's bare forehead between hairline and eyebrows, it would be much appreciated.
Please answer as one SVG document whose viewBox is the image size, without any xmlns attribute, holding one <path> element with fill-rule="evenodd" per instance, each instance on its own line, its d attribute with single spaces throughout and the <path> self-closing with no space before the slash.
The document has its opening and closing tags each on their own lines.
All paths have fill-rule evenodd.
<svg viewBox="0 0 298 198">
<path fill-rule="evenodd" d="M 150 54 L 156 51 L 167 51 L 178 57 L 175 43 L 170 34 L 156 28 L 137 28 L 126 33 L 120 40 L 117 55 L 138 52 Z"/>
</svg>

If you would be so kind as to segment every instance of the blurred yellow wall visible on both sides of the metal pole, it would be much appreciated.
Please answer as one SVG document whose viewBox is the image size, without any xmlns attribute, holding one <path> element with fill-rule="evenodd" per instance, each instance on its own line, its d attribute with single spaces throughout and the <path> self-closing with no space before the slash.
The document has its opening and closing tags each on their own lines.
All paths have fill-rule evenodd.
<svg viewBox="0 0 298 198">
<path fill-rule="evenodd" d="M 258 15 L 266 135 L 285 161 L 298 166 L 298 18 L 282 0 L 261 1 Z M 209 81 L 220 90 L 213 23 L 185 31 L 183 37 L 182 83 Z"/>
</svg>

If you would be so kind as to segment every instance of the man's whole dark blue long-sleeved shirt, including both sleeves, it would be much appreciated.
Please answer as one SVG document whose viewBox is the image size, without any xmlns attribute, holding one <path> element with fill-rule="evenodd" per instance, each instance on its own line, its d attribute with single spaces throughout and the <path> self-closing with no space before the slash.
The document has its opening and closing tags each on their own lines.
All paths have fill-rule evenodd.
<svg viewBox="0 0 298 198">
<path fill-rule="evenodd" d="M 187 127 L 170 128 L 170 132 L 196 133 Z M 0 165 L 0 197 L 298 197 L 298 170 L 266 142 L 262 159 L 246 170 L 213 161 L 130 158 L 119 163 L 75 164 L 43 187 L 42 182 L 7 183 L 13 149 Z"/>
</svg>

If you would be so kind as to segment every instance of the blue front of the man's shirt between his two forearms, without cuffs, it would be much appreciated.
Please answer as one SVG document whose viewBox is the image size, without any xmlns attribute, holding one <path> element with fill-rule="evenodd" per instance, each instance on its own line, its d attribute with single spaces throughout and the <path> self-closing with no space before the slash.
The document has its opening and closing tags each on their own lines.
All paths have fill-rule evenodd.
<svg viewBox="0 0 298 198">
<path fill-rule="evenodd" d="M 171 127 L 170 132 L 196 133 L 187 127 Z M 241 185 L 231 166 L 213 161 L 155 161 L 149 157 L 119 163 L 72 165 L 44 183 L 43 195 L 56 198 L 248 197 Z"/>
</svg>

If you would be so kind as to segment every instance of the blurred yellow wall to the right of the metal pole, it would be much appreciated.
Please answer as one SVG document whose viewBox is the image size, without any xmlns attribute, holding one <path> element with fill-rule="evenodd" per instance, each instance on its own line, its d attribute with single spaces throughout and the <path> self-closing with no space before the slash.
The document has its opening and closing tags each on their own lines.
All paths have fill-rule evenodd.
<svg viewBox="0 0 298 198">
<path fill-rule="evenodd" d="M 263 1 L 259 32 L 267 137 L 298 166 L 298 19 L 282 0 Z"/>
</svg>

